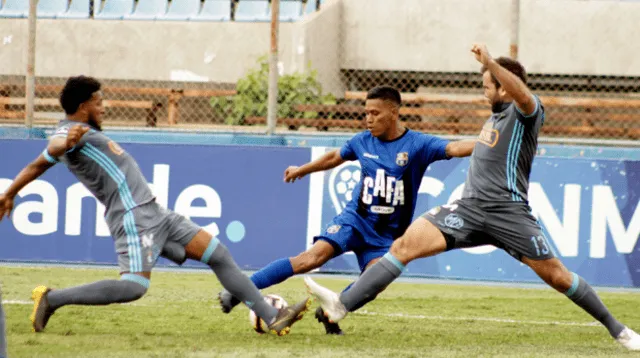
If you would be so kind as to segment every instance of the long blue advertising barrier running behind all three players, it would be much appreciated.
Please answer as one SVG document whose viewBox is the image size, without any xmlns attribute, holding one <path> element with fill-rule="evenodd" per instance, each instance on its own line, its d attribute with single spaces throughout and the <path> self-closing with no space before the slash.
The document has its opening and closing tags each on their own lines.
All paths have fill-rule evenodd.
<svg viewBox="0 0 640 358">
<path fill-rule="evenodd" d="M 0 141 L 0 153 L 11 153 L 2 156 L 0 191 L 41 152 L 45 141 L 37 138 L 46 136 L 48 129 L 0 130 L 0 138 L 26 138 L 25 133 L 33 139 Z M 336 188 L 349 178 L 338 173 L 357 167 L 348 163 L 293 185 L 282 182 L 288 165 L 307 162 L 340 146 L 348 136 L 107 134 L 138 159 L 161 204 L 218 234 L 247 269 L 304 250 L 342 208 L 340 196 L 345 193 Z M 640 286 L 639 159 L 640 149 L 539 148 L 530 188 L 533 211 L 558 256 L 594 284 Z M 416 215 L 456 198 L 467 166 L 466 159 L 432 165 L 423 178 Z M 0 260 L 115 263 L 99 207 L 62 165 L 22 194 L 13 220 L 0 223 Z M 353 256 L 346 255 L 323 270 L 356 272 L 357 265 Z M 407 274 L 538 280 L 528 268 L 492 247 L 419 260 L 409 265 Z"/>
</svg>

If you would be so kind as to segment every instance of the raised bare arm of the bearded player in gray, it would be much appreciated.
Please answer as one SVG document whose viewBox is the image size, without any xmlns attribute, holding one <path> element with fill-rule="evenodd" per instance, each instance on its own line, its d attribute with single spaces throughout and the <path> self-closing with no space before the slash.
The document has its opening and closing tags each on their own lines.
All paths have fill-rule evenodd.
<svg viewBox="0 0 640 358">
<path fill-rule="evenodd" d="M 476 60 L 491 72 L 498 82 L 500 82 L 502 88 L 516 101 L 516 105 L 522 114 L 525 116 L 533 114 L 536 110 L 536 100 L 533 98 L 533 94 L 527 85 L 522 82 L 518 76 L 500 66 L 493 57 L 491 57 L 486 45 L 474 44 L 471 52 L 475 55 Z"/>
</svg>

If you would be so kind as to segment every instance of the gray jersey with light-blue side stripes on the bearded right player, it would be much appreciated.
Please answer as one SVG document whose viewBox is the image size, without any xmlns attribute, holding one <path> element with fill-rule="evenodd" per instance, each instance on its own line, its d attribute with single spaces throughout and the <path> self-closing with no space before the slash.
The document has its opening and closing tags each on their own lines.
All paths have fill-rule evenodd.
<svg viewBox="0 0 640 358">
<path fill-rule="evenodd" d="M 528 202 L 529 175 L 544 123 L 544 107 L 524 116 L 513 103 L 504 104 L 484 124 L 476 144 L 463 198 L 492 202 Z"/>
</svg>

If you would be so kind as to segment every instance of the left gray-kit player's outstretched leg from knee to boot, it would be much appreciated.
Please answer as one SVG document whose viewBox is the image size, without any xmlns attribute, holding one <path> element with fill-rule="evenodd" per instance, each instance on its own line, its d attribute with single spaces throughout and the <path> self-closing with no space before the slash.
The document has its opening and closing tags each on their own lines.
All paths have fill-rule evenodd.
<svg viewBox="0 0 640 358">
<path fill-rule="evenodd" d="M 188 258 L 209 265 L 222 286 L 269 322 L 269 329 L 278 335 L 289 333 L 291 326 L 302 318 L 311 303 L 307 298 L 280 310 L 268 304 L 251 280 L 240 271 L 224 244 L 204 230 L 194 236 L 185 246 L 185 251 Z"/>
</svg>

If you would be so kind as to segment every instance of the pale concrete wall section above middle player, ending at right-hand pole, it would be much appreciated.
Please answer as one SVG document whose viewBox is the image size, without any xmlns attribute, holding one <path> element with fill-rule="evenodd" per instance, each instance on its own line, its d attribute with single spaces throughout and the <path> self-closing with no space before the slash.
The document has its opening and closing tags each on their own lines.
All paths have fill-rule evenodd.
<svg viewBox="0 0 640 358">
<path fill-rule="evenodd" d="M 477 71 L 471 45 L 509 52 L 510 0 L 344 1 L 345 68 Z"/>
</svg>

